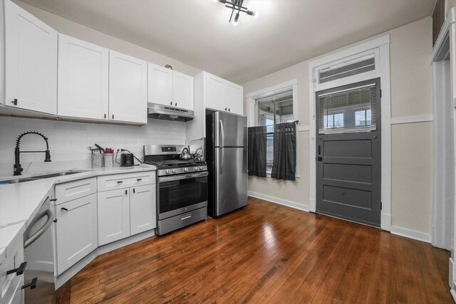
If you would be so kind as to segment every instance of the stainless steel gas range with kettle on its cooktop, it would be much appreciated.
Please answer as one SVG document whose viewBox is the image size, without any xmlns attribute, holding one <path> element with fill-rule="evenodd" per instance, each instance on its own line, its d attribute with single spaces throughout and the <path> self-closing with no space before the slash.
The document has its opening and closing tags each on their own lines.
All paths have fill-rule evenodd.
<svg viewBox="0 0 456 304">
<path fill-rule="evenodd" d="M 186 146 L 144 145 L 144 162 L 157 167 L 157 234 L 207 218 L 207 164 L 182 160 Z"/>
</svg>

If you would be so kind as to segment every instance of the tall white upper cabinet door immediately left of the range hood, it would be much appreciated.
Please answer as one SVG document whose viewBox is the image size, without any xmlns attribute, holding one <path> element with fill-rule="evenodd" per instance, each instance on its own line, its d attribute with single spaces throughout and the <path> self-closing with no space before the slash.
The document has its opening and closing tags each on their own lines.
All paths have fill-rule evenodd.
<svg viewBox="0 0 456 304">
<path fill-rule="evenodd" d="M 109 51 L 109 119 L 147 123 L 147 63 Z"/>
</svg>

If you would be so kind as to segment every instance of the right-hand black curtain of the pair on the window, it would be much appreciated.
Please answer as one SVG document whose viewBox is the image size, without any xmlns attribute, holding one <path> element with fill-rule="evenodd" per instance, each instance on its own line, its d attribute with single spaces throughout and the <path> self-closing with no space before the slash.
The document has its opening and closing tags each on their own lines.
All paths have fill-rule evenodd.
<svg viewBox="0 0 456 304">
<path fill-rule="evenodd" d="M 296 123 L 274 125 L 274 163 L 271 177 L 294 181 L 296 173 Z"/>
</svg>

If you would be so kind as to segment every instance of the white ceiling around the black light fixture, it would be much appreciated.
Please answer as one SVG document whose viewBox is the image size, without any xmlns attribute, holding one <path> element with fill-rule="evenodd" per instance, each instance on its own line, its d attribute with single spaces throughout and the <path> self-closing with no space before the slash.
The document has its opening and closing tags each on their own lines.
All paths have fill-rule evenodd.
<svg viewBox="0 0 456 304">
<path fill-rule="evenodd" d="M 245 83 L 432 14 L 435 0 L 21 0 L 138 46 Z M 430 35 L 430 33 L 425 33 Z"/>
</svg>

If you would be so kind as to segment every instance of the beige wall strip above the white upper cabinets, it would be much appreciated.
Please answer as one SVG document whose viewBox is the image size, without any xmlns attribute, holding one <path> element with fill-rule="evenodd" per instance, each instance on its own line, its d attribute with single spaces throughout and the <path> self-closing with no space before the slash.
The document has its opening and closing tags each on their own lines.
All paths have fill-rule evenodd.
<svg viewBox="0 0 456 304">
<path fill-rule="evenodd" d="M 170 57 L 155 53 L 153 51 L 147 50 L 147 48 L 136 46 L 133 43 L 120 40 L 113 36 L 106 35 L 100 31 L 95 31 L 92 28 L 88 28 L 79 23 L 69 21 L 68 19 L 63 19 L 60 16 L 48 13 L 47 11 L 43 11 L 41 9 L 37 9 L 34 6 L 24 4 L 24 2 L 14 1 L 14 3 L 26 9 L 26 11 L 33 14 L 38 19 L 41 19 L 49 26 L 55 28 L 59 33 L 64 33 L 68 36 L 73 36 L 75 38 L 97 44 L 98 46 L 110 48 L 111 50 L 125 53 L 127 55 L 140 58 L 157 65 L 165 66 L 167 64 L 170 64 L 174 70 L 178 70 L 187 75 L 196 75 L 197 73 L 201 72 L 201 70 L 198 70 L 197 68 L 193 68 L 190 65 L 186 65 L 185 63 L 176 61 Z"/>
</svg>

